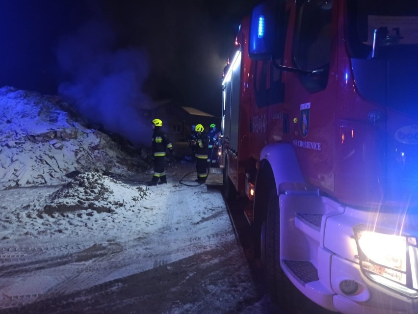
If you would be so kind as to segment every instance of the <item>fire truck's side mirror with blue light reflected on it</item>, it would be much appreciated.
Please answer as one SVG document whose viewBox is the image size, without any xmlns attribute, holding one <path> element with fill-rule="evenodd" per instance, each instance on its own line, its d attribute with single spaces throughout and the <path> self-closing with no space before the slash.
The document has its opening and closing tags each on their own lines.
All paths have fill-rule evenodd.
<svg viewBox="0 0 418 314">
<path fill-rule="evenodd" d="M 279 2 L 279 3 L 278 3 Z M 283 16 L 283 1 L 263 2 L 254 7 L 250 22 L 249 55 L 253 60 L 280 57 L 281 35 L 278 19 Z M 282 13 L 282 14 L 281 14 Z"/>
</svg>

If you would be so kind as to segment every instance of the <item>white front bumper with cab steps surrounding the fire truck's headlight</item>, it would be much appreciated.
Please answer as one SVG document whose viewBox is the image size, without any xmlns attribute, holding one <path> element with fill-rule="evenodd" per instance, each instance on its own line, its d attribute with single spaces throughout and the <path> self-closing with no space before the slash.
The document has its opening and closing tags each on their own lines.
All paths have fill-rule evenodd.
<svg viewBox="0 0 418 314">
<path fill-rule="evenodd" d="M 400 221 L 401 228 L 391 226 L 391 222 L 396 225 Z M 383 227 L 391 230 L 391 235 L 406 234 L 405 248 L 412 246 L 414 252 L 418 252 L 417 221 L 417 217 L 400 217 L 396 212 L 344 207 L 313 193 L 287 192 L 280 196 L 280 237 L 291 240 L 280 243 L 282 269 L 302 293 L 331 311 L 343 314 L 418 313 L 418 294 L 408 295 L 393 288 L 391 282 L 394 281 L 380 276 L 389 283 L 385 286 L 376 280 L 379 275 L 370 276 L 361 269 L 355 234 L 359 226 L 365 226 L 372 233 L 377 227 Z M 414 278 L 411 268 L 415 264 L 415 274 L 418 274 L 418 262 L 411 262 L 408 255 L 405 253 L 404 273 L 408 278 L 406 282 L 411 282 Z M 416 260 L 417 257 L 418 254 Z M 377 265 L 377 269 L 385 268 L 371 263 Z M 307 272 L 309 276 L 306 276 Z M 415 276 L 418 283 L 418 276 Z M 412 286 L 411 291 L 414 292 Z"/>
</svg>

